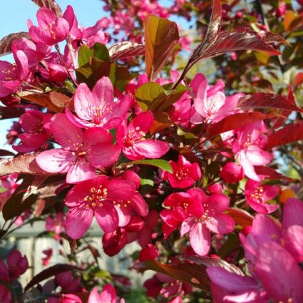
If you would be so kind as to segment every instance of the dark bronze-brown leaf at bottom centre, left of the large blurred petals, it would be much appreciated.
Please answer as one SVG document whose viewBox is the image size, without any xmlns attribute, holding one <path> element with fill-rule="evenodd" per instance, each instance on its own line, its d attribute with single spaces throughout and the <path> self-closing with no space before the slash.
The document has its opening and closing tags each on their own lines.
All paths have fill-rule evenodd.
<svg viewBox="0 0 303 303">
<path fill-rule="evenodd" d="M 192 263 L 179 263 L 177 265 L 165 265 L 155 260 L 146 260 L 137 265 L 135 269 L 139 270 L 154 270 L 161 274 L 167 274 L 170 277 L 183 281 L 203 289 L 205 292 L 210 292 L 210 279 L 207 276 L 205 266 Z"/>
</svg>

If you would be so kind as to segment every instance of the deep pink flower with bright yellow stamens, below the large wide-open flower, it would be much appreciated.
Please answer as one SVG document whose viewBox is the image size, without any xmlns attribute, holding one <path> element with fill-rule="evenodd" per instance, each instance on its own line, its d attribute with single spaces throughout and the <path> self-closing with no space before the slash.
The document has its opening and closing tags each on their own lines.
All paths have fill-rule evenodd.
<svg viewBox="0 0 303 303">
<path fill-rule="evenodd" d="M 108 180 L 105 175 L 75 185 L 66 195 L 70 207 L 66 215 L 66 233 L 72 239 L 81 238 L 93 217 L 104 232 L 118 228 L 118 213 L 114 202 L 130 200 L 135 184 L 127 180 Z"/>
</svg>

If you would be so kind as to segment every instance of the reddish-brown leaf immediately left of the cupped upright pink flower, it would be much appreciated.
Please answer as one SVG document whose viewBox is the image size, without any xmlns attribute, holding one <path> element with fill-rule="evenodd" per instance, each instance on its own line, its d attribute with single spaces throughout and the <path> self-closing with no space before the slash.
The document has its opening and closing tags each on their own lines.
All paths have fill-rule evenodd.
<svg viewBox="0 0 303 303">
<path fill-rule="evenodd" d="M 68 108 L 71 105 L 71 98 L 57 91 L 50 91 L 49 93 L 21 91 L 18 96 L 26 101 L 38 104 L 38 106 L 46 107 L 55 113 L 61 113 L 64 108 Z"/>
</svg>

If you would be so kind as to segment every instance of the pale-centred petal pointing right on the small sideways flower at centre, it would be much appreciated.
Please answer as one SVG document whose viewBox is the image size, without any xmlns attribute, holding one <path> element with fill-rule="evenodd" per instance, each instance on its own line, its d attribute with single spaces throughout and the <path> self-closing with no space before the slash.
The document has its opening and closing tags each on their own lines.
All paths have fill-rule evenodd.
<svg viewBox="0 0 303 303">
<path fill-rule="evenodd" d="M 133 145 L 133 150 L 143 158 L 161 158 L 170 149 L 170 145 L 160 140 L 143 140 Z"/>
</svg>

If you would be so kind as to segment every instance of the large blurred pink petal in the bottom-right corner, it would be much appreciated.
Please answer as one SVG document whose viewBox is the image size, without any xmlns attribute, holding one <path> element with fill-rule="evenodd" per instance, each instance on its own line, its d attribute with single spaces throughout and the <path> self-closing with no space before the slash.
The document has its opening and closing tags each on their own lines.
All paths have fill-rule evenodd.
<svg viewBox="0 0 303 303">
<path fill-rule="evenodd" d="M 270 253 L 269 253 L 270 252 Z M 257 251 L 255 271 L 272 299 L 303 302 L 303 271 L 292 255 L 276 242 Z"/>
</svg>

